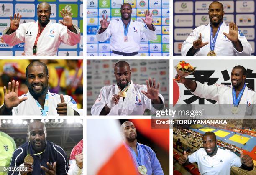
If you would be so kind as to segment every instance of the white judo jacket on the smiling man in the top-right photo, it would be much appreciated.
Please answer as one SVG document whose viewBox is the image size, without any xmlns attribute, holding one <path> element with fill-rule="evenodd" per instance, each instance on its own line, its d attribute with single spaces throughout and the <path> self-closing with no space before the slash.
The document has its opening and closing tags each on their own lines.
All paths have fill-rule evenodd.
<svg viewBox="0 0 256 175">
<path fill-rule="evenodd" d="M 252 48 L 250 43 L 248 43 L 246 37 L 241 32 L 241 30 L 238 30 L 238 40 L 243 45 L 243 51 L 239 52 L 236 50 L 236 48 L 233 46 L 232 42 L 223 34 L 229 33 L 229 25 L 226 24 L 224 21 L 222 25 L 220 26 L 220 31 L 218 33 L 214 52 L 217 56 L 250 56 L 252 53 Z M 209 42 L 209 44 L 203 46 L 200 48 L 194 56 L 207 56 L 207 54 L 210 52 L 210 36 L 211 36 L 211 27 L 210 23 L 206 25 L 201 25 L 197 28 L 195 28 L 190 35 L 187 37 L 187 39 L 182 44 L 182 50 L 181 54 L 182 56 L 186 56 L 187 52 L 190 48 L 193 47 L 193 42 L 196 41 L 199 38 L 199 34 L 202 35 L 202 42 Z"/>
</svg>

